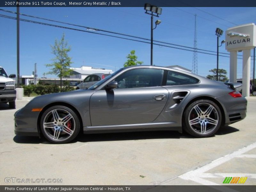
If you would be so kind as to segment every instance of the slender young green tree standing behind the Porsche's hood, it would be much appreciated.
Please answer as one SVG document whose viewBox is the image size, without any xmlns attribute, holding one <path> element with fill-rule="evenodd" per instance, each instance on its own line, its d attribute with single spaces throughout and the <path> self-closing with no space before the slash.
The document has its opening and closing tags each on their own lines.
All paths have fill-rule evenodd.
<svg viewBox="0 0 256 192">
<path fill-rule="evenodd" d="M 54 74 L 60 77 L 60 91 L 62 90 L 62 77 L 68 77 L 72 72 L 69 69 L 71 62 L 71 57 L 68 57 L 68 52 L 71 51 L 71 47 L 68 46 L 67 41 L 65 41 L 65 34 L 63 33 L 60 41 L 55 39 L 55 44 L 51 45 L 52 53 L 55 57 L 52 59 L 53 63 L 46 64 L 46 67 L 51 67 L 51 71 L 47 74 Z"/>
</svg>

